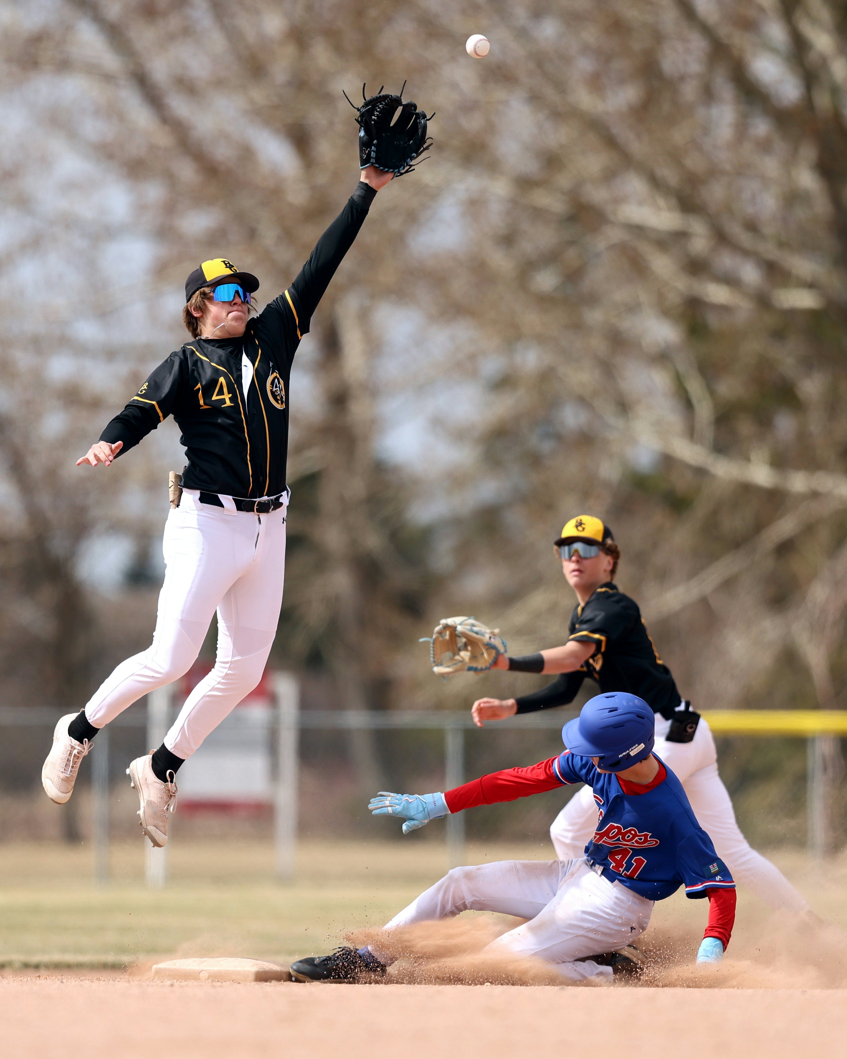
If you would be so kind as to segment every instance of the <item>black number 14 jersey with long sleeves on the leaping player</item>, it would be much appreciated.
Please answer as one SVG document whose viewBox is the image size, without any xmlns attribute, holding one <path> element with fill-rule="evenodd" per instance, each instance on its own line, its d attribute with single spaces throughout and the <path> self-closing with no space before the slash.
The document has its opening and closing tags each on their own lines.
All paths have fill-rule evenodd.
<svg viewBox="0 0 847 1059">
<path fill-rule="evenodd" d="M 123 455 L 173 415 L 188 460 L 183 486 L 241 498 L 283 492 L 291 362 L 375 195 L 360 182 L 296 280 L 248 321 L 241 338 L 194 339 L 172 353 L 101 441 L 123 442 Z"/>
</svg>

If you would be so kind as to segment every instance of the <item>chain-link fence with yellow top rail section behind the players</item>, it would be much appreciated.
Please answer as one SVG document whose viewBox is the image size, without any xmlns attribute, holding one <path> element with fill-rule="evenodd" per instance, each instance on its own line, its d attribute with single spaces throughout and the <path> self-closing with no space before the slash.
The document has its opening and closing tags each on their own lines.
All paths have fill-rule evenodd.
<svg viewBox="0 0 847 1059">
<path fill-rule="evenodd" d="M 574 716 L 557 710 L 480 730 L 466 712 L 301 711 L 298 682 L 288 674 L 272 675 L 268 689 L 264 705 L 233 711 L 183 767 L 175 837 L 179 841 L 210 829 L 221 833 L 227 826 L 239 833 L 248 829 L 274 842 L 281 878 L 295 870 L 298 837 L 396 840 L 398 829 L 374 821 L 366 810 L 378 783 L 392 790 L 447 790 L 485 772 L 531 764 L 558 752 L 561 726 Z M 126 767 L 161 742 L 179 705 L 175 686 L 154 693 L 104 729 L 94 740 L 90 767 L 84 762 L 76 800 L 85 806 L 85 819 L 78 828 L 93 843 L 100 882 L 109 878 L 110 841 L 139 833 L 133 795 L 123 786 Z M 38 775 L 56 718 L 55 711 L 43 707 L 0 708 L 4 753 L 14 761 L 6 789 L 18 791 L 18 807 L 31 797 L 38 808 L 31 818 L 17 813 L 18 839 L 37 830 L 28 821 L 56 808 L 40 794 Z M 714 712 L 708 720 L 721 774 L 754 844 L 805 843 L 812 856 L 822 857 L 843 843 L 837 762 L 847 715 Z M 357 732 L 373 740 L 379 776 L 362 776 L 354 768 L 349 749 Z M 547 846 L 549 824 L 572 794 L 569 788 L 457 813 L 434 822 L 415 841 L 446 840 L 451 865 L 463 862 L 467 838 L 537 840 Z M 11 819 L 2 826 L 0 834 L 10 837 Z M 148 884 L 163 885 L 166 876 L 166 850 L 150 848 Z"/>
</svg>

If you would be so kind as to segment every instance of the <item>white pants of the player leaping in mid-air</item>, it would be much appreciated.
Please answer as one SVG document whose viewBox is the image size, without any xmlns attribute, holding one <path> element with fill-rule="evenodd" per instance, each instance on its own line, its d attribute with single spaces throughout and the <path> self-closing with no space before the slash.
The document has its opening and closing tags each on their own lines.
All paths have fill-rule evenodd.
<svg viewBox="0 0 847 1059">
<path fill-rule="evenodd" d="M 183 491 L 165 523 L 165 579 L 152 644 L 122 662 L 92 695 L 86 717 L 95 728 L 186 672 L 216 610 L 215 667 L 185 700 L 165 746 L 190 757 L 258 684 L 283 602 L 286 511 L 213 507 Z"/>
</svg>

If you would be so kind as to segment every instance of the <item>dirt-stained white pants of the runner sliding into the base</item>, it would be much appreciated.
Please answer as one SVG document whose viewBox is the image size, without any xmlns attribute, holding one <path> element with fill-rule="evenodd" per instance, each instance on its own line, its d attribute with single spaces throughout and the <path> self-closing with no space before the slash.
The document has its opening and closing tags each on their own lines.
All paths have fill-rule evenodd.
<svg viewBox="0 0 847 1059">
<path fill-rule="evenodd" d="M 502 934 L 485 952 L 543 959 L 572 982 L 611 981 L 611 967 L 580 957 L 612 952 L 634 941 L 647 930 L 653 902 L 597 875 L 584 857 L 498 861 L 454 867 L 399 912 L 385 930 L 446 919 L 468 910 L 529 920 Z M 390 963 L 388 956 L 380 957 L 378 945 L 371 950 Z"/>
</svg>

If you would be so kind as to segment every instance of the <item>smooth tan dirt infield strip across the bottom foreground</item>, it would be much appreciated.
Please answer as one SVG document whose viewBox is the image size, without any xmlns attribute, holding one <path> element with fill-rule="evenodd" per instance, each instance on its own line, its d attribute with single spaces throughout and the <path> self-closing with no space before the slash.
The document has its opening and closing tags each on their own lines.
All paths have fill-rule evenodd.
<svg viewBox="0 0 847 1059">
<path fill-rule="evenodd" d="M 0 980 L 7 1059 L 632 1059 L 835 1055 L 847 990 L 194 985 L 105 976 Z M 542 1053 L 543 1054 L 543 1053 Z"/>
</svg>

